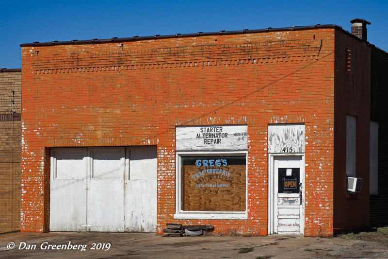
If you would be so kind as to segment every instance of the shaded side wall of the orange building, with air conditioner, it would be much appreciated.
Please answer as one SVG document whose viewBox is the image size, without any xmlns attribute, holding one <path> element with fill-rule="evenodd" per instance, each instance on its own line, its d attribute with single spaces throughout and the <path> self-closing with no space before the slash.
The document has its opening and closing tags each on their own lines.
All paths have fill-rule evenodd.
<svg viewBox="0 0 388 259">
<path fill-rule="evenodd" d="M 334 119 L 334 228 L 335 232 L 369 226 L 370 47 L 336 32 Z M 361 192 L 346 191 L 346 116 L 356 117 L 356 177 Z"/>
</svg>

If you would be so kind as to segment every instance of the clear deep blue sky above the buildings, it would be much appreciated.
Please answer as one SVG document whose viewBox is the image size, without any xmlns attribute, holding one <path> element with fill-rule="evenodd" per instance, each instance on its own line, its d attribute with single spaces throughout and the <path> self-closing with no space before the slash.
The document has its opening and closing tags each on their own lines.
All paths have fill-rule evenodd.
<svg viewBox="0 0 388 259">
<path fill-rule="evenodd" d="M 8 1 L 0 4 L 0 68 L 21 68 L 19 44 L 267 27 L 368 25 L 368 41 L 388 52 L 388 1 Z"/>
</svg>

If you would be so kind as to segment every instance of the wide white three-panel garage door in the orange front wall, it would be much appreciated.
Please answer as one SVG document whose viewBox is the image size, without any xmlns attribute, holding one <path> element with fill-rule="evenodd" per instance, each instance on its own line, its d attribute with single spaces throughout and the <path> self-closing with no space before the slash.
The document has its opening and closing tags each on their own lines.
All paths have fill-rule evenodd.
<svg viewBox="0 0 388 259">
<path fill-rule="evenodd" d="M 51 231 L 156 232 L 156 147 L 53 148 Z"/>
</svg>

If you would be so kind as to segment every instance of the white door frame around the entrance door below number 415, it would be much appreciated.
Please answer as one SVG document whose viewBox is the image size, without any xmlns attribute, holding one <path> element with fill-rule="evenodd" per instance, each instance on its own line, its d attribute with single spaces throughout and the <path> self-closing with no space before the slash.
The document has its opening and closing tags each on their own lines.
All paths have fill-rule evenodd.
<svg viewBox="0 0 388 259">
<path fill-rule="evenodd" d="M 268 154 L 268 235 L 275 233 L 275 159 L 276 157 L 295 157 L 300 156 L 300 182 L 302 182 L 302 206 L 300 209 L 300 234 L 305 233 L 305 154 Z M 277 172 L 276 172 L 277 173 Z M 277 200 L 276 200 L 277 202 Z"/>
</svg>

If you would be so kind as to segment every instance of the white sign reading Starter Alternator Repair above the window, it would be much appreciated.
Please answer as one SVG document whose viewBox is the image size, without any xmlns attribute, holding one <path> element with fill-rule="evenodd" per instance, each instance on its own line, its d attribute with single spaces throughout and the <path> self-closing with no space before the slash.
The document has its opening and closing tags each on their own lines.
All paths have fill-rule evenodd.
<svg viewBox="0 0 388 259">
<path fill-rule="evenodd" d="M 176 129 L 177 151 L 244 151 L 247 125 L 185 126 Z"/>
</svg>

